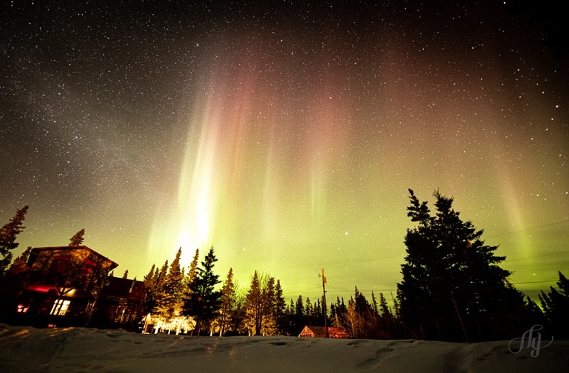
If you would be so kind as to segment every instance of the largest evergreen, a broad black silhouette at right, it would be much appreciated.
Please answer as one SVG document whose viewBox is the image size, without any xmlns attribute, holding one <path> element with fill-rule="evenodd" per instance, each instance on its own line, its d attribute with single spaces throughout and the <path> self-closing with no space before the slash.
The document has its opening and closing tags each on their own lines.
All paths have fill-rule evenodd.
<svg viewBox="0 0 569 373">
<path fill-rule="evenodd" d="M 437 213 L 410 192 L 408 216 L 417 227 L 405 235 L 407 256 L 398 283 L 400 313 L 416 337 L 489 340 L 519 333 L 523 296 L 507 281 L 497 247 L 482 230 L 463 222 L 452 198 L 435 191 Z"/>
</svg>

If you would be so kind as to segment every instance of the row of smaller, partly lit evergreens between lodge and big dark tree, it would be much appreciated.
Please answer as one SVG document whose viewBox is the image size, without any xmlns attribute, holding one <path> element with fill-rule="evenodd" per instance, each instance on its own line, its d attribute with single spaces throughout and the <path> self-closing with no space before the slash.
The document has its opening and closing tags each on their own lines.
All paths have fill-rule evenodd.
<svg viewBox="0 0 569 373">
<path fill-rule="evenodd" d="M 321 298 L 311 301 L 299 295 L 287 303 L 280 280 L 259 271 L 252 274 L 245 291 L 238 288 L 233 268 L 220 281 L 213 273 L 217 261 L 213 247 L 201 266 L 196 249 L 188 271 L 180 266 L 181 254 L 180 248 L 171 264 L 153 265 L 144 276 L 147 312 L 156 333 L 298 335 L 304 325 L 324 325 L 326 318 L 327 325 L 342 328 L 351 337 L 403 337 L 400 320 L 383 293 L 376 298 L 372 292 L 370 303 L 356 287 L 347 304 L 336 298 L 324 315 Z"/>
</svg>

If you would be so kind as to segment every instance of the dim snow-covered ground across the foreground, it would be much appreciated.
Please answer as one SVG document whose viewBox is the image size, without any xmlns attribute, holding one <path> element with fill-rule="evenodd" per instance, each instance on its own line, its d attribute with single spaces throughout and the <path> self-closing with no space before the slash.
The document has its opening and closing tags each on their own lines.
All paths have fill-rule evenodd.
<svg viewBox="0 0 569 373">
<path fill-rule="evenodd" d="M 553 340 L 536 357 L 525 347 L 511 352 L 518 350 L 519 341 L 188 337 L 0 324 L 2 373 L 569 372 L 569 341 Z"/>
</svg>

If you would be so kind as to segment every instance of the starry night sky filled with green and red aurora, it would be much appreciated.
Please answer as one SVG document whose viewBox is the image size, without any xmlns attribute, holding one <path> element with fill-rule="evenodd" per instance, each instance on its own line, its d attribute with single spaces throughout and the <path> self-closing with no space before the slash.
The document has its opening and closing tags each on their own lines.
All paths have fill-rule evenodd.
<svg viewBox="0 0 569 373">
<path fill-rule="evenodd" d="M 29 205 L 15 254 L 85 228 L 117 276 L 213 245 L 220 278 L 233 267 L 242 287 L 258 270 L 315 299 L 324 268 L 329 300 L 388 295 L 412 188 L 431 206 L 435 189 L 454 196 L 519 290 L 569 274 L 559 9 L 8 3 L 0 221 Z"/>
</svg>

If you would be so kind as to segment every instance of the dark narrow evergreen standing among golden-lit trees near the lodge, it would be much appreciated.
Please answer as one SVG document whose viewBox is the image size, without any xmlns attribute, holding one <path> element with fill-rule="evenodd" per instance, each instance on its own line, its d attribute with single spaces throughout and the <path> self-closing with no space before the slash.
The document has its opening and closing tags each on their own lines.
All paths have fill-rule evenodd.
<svg viewBox="0 0 569 373">
<path fill-rule="evenodd" d="M 218 279 L 219 276 L 213 273 L 213 266 L 216 261 L 218 259 L 213 254 L 213 247 L 211 247 L 206 258 L 201 262 L 201 267 L 196 269 L 196 276 L 193 281 L 187 285 L 184 313 L 195 320 L 198 335 L 210 330 L 211 323 L 220 306 L 221 292 L 215 288 L 221 281 Z"/>
</svg>

